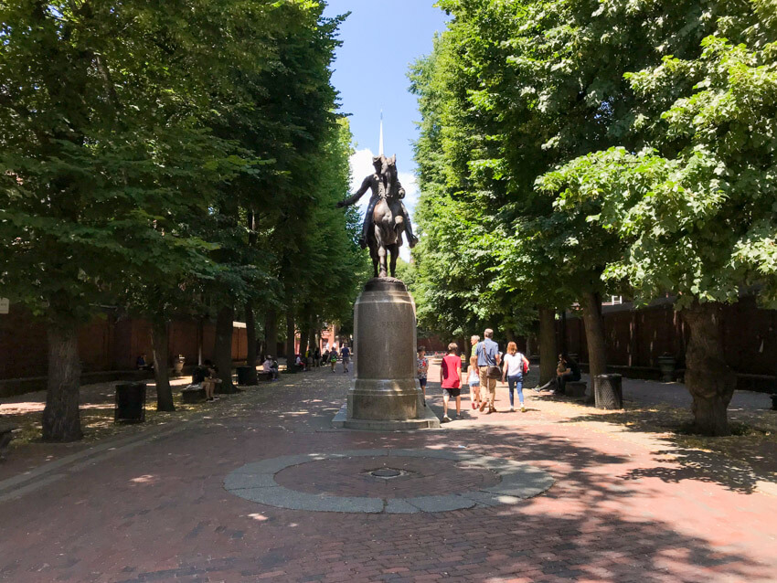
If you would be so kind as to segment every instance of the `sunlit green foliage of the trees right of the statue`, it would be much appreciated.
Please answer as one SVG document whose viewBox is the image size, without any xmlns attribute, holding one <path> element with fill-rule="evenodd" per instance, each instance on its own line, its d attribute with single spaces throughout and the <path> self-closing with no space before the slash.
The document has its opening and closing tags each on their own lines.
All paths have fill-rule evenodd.
<svg viewBox="0 0 777 583">
<path fill-rule="evenodd" d="M 511 310 L 591 285 L 681 305 L 751 284 L 774 297 L 773 3 L 440 5 L 452 21 L 411 72 L 422 288 L 469 285 Z M 457 204 L 465 218 L 438 228 L 434 207 Z M 479 317 L 440 295 L 441 322 Z"/>
</svg>

